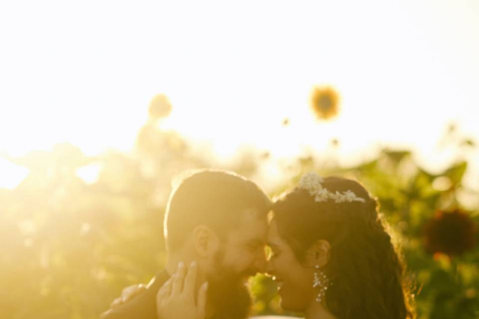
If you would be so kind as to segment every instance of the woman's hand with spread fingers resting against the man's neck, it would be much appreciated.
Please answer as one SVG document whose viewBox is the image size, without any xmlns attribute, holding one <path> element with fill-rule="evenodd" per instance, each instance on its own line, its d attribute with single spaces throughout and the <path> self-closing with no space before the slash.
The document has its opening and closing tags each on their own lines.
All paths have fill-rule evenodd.
<svg viewBox="0 0 479 319">
<path fill-rule="evenodd" d="M 195 298 L 197 278 L 196 262 L 188 272 L 183 263 L 177 272 L 160 288 L 156 295 L 157 315 L 160 319 L 204 319 L 208 282 L 204 283 Z"/>
</svg>

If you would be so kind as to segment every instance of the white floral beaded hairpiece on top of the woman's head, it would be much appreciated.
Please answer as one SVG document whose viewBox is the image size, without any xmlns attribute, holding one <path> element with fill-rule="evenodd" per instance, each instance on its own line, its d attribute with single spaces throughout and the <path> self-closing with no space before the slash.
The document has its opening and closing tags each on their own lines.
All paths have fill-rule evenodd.
<svg viewBox="0 0 479 319">
<path fill-rule="evenodd" d="M 344 192 L 330 192 L 321 185 L 323 181 L 324 179 L 315 172 L 309 172 L 301 177 L 298 187 L 307 190 L 309 195 L 313 196 L 314 201 L 317 202 L 327 201 L 328 199 L 333 199 L 335 203 L 350 203 L 353 201 L 364 203 L 366 201 L 364 198 L 356 196 L 350 189 Z"/>
</svg>

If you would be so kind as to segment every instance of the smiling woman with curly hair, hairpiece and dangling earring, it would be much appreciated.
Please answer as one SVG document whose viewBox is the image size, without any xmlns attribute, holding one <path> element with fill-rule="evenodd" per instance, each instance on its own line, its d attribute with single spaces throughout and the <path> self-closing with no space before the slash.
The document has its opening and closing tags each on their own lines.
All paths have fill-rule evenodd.
<svg viewBox="0 0 479 319">
<path fill-rule="evenodd" d="M 308 173 L 272 212 L 267 273 L 283 309 L 306 319 L 414 318 L 401 260 L 376 200 L 358 182 Z M 205 293 L 195 305 L 171 286 L 158 294 L 159 317 L 202 319 Z"/>
</svg>

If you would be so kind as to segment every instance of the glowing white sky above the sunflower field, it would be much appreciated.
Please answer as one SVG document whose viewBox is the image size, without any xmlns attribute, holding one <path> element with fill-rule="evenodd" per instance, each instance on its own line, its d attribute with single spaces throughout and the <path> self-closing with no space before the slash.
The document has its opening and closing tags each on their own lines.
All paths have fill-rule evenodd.
<svg viewBox="0 0 479 319">
<path fill-rule="evenodd" d="M 157 93 L 172 101 L 169 127 L 223 156 L 338 138 L 345 163 L 393 145 L 439 167 L 447 124 L 479 141 L 478 0 L 10 0 L 0 43 L 0 151 L 12 155 L 62 141 L 130 150 Z M 314 121 L 314 84 L 342 95 L 337 120 Z M 0 186 L 12 171 L 0 161 Z"/>
</svg>

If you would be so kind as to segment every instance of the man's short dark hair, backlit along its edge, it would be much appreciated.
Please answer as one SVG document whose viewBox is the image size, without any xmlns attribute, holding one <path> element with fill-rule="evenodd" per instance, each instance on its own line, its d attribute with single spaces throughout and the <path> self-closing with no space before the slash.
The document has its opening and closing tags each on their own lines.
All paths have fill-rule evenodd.
<svg viewBox="0 0 479 319">
<path fill-rule="evenodd" d="M 225 236 L 251 209 L 266 217 L 270 201 L 266 194 L 245 177 L 224 170 L 195 171 L 177 182 L 166 207 L 164 232 L 171 252 L 180 249 L 188 234 L 206 225 Z"/>
</svg>

